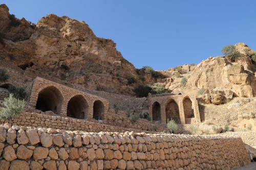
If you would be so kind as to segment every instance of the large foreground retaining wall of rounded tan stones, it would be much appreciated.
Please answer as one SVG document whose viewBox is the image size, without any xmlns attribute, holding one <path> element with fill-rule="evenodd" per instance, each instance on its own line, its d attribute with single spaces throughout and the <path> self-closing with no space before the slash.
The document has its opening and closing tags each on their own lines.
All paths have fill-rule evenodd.
<svg viewBox="0 0 256 170">
<path fill-rule="evenodd" d="M 249 163 L 240 138 L 0 127 L 3 170 L 235 169 Z"/>
</svg>

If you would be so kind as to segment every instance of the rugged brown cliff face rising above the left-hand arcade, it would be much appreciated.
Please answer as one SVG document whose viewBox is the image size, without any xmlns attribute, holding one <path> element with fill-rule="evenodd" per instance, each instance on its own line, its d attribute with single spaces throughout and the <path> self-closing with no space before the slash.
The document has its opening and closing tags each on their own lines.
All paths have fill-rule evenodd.
<svg viewBox="0 0 256 170">
<path fill-rule="evenodd" d="M 17 66 L 31 66 L 91 90 L 133 93 L 127 78 L 138 78 L 135 67 L 116 50 L 116 43 L 96 37 L 84 21 L 49 14 L 35 26 L 24 18 L 11 18 L 5 5 L 0 6 L 0 16 L 0 32 L 6 35 L 0 60 L 12 58 Z"/>
</svg>

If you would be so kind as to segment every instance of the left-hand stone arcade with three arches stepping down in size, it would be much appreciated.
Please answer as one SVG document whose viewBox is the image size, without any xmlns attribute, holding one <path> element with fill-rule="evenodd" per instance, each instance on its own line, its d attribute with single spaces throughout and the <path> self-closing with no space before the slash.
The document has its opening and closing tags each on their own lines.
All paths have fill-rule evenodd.
<svg viewBox="0 0 256 170">
<path fill-rule="evenodd" d="M 84 114 L 84 118 L 93 118 L 93 115 L 96 114 L 94 104 L 98 101 L 103 104 L 104 108 L 97 108 L 97 110 L 103 110 L 104 113 L 101 113 L 103 117 L 97 118 L 104 119 L 105 113 L 108 112 L 109 103 L 107 100 L 39 77 L 33 82 L 29 105 L 43 111 L 51 110 L 56 114 L 67 116 L 69 104 L 71 104 L 70 109 L 79 107 L 78 102 L 75 102 L 76 100 L 73 104 L 69 103 L 74 98 L 77 98 L 79 102 L 84 101 L 80 105 L 86 106 L 84 110 L 74 110 L 74 114 L 81 112 Z"/>
</svg>

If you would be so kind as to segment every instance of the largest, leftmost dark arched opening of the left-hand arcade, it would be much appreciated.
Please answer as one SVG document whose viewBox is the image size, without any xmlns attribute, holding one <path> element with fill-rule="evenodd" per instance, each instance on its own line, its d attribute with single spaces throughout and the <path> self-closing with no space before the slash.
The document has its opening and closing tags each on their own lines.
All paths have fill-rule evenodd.
<svg viewBox="0 0 256 170">
<path fill-rule="evenodd" d="M 62 99 L 60 91 L 56 87 L 50 86 L 38 93 L 35 108 L 44 112 L 51 110 L 55 114 L 60 114 Z"/>
</svg>

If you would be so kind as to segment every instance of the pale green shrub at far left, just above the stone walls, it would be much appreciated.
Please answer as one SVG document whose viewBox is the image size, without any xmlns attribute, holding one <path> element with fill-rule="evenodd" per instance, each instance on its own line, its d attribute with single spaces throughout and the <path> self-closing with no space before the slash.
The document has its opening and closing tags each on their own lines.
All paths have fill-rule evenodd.
<svg viewBox="0 0 256 170">
<path fill-rule="evenodd" d="M 5 98 L 3 102 L 4 108 L 0 112 L 0 118 L 12 119 L 25 110 L 25 101 L 14 98 L 11 93 L 8 98 Z"/>
</svg>

